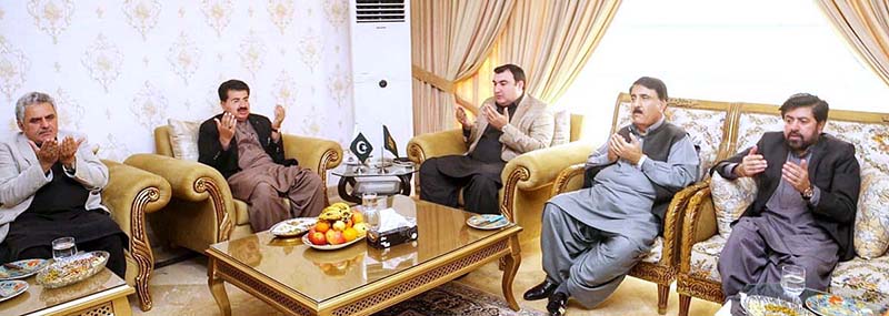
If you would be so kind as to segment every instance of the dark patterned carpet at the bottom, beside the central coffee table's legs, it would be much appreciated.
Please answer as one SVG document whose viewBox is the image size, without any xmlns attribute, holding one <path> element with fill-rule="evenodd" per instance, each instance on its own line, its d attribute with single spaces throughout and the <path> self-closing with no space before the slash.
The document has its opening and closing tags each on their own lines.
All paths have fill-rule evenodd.
<svg viewBox="0 0 889 316">
<path fill-rule="evenodd" d="M 513 312 L 507 306 L 503 297 L 497 297 L 456 282 L 449 282 L 376 315 L 547 315 L 527 306 L 520 307 L 521 310 Z"/>
</svg>

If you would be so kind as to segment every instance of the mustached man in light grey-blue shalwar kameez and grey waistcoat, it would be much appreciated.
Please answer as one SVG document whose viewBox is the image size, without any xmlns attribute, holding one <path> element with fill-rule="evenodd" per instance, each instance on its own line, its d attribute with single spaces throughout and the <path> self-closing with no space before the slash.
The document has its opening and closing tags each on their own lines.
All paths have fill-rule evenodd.
<svg viewBox="0 0 889 316">
<path fill-rule="evenodd" d="M 672 195 L 698 179 L 698 153 L 682 128 L 667 122 L 667 85 L 642 77 L 630 85 L 632 123 L 587 160 L 583 190 L 543 207 L 540 248 L 547 278 L 525 299 L 549 298 L 562 315 L 569 297 L 595 308 L 662 231 Z"/>
</svg>

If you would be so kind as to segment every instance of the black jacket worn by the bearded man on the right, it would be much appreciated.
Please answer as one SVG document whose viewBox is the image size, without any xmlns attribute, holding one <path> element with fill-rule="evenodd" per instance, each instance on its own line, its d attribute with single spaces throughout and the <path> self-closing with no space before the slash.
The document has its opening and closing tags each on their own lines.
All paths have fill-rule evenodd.
<svg viewBox="0 0 889 316">
<path fill-rule="evenodd" d="M 812 185 L 818 186 L 821 196 L 818 206 L 813 208 L 809 206 L 809 208 L 811 208 L 815 222 L 839 245 L 840 261 L 848 261 L 855 256 L 852 226 L 858 210 L 858 193 L 861 187 L 861 174 L 858 160 L 855 157 L 855 146 L 825 133 L 813 146 L 809 161 L 809 181 Z M 757 198 L 741 216 L 759 216 L 766 208 L 766 203 L 781 182 L 781 167 L 790 151 L 782 132 L 765 133 L 757 143 L 757 152 L 766 157 L 768 167 L 763 173 L 755 176 L 759 192 Z M 719 172 L 725 179 L 737 177 L 735 174 L 726 174 L 725 166 L 729 163 L 740 163 L 749 151 L 750 149 L 747 149 L 719 162 L 710 172 Z"/>
</svg>

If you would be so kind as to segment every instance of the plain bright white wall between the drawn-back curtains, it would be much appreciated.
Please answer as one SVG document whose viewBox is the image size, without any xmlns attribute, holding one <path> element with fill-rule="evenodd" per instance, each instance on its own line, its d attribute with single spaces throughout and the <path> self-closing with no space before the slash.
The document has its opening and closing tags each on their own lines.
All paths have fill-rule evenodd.
<svg viewBox="0 0 889 316">
<path fill-rule="evenodd" d="M 585 139 L 599 144 L 618 93 L 642 75 L 677 98 L 780 104 L 810 92 L 831 109 L 889 112 L 889 88 L 815 1 L 623 1 L 557 103 L 586 114 Z"/>
</svg>

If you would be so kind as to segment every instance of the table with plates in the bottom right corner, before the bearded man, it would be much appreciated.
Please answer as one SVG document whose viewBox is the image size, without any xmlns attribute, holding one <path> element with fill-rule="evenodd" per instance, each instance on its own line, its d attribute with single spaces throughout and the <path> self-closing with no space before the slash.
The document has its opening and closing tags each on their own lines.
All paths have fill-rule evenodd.
<svg viewBox="0 0 889 316">
<path fill-rule="evenodd" d="M 806 288 L 799 298 L 788 296 L 780 283 L 747 285 L 741 306 L 747 315 L 882 315 L 885 307 L 862 300 L 851 300 L 827 292 Z M 745 302 L 747 300 L 747 302 Z M 748 309 L 749 308 L 749 309 Z M 750 310 L 753 309 L 753 310 Z"/>
</svg>

